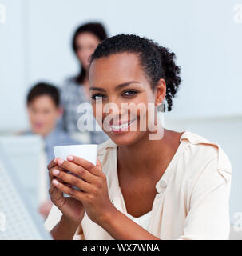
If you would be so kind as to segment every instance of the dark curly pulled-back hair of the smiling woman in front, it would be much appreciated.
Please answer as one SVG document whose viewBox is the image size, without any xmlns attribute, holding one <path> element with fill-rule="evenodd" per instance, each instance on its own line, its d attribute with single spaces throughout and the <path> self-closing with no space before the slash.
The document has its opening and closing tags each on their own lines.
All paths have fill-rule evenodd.
<svg viewBox="0 0 242 256">
<path fill-rule="evenodd" d="M 118 34 L 105 39 L 97 46 L 91 56 L 90 63 L 97 58 L 125 52 L 137 54 L 141 68 L 144 70 L 153 90 L 155 90 L 157 82 L 161 78 L 165 80 L 165 99 L 168 111 L 172 110 L 173 98 L 181 84 L 181 67 L 175 63 L 176 55 L 170 52 L 168 48 L 159 46 L 147 38 L 141 38 L 134 34 Z"/>
</svg>

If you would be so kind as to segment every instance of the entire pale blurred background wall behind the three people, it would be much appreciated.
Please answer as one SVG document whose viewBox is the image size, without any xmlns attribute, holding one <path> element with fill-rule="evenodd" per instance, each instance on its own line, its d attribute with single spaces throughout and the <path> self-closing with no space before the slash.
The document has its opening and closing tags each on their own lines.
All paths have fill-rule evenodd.
<svg viewBox="0 0 242 256">
<path fill-rule="evenodd" d="M 236 213 L 242 214 L 242 1 L 0 2 L 6 7 L 6 21 L 0 23 L 2 143 L 10 145 L 7 135 L 30 129 L 26 94 L 31 86 L 44 81 L 61 88 L 66 78 L 79 72 L 71 48 L 77 26 L 101 22 L 109 36 L 145 36 L 169 47 L 181 66 L 181 88 L 173 111 L 165 113 L 165 126 L 190 130 L 222 146 L 232 162 L 231 223 L 240 222 Z M 19 158 L 21 150 L 9 148 L 9 154 Z"/>
</svg>

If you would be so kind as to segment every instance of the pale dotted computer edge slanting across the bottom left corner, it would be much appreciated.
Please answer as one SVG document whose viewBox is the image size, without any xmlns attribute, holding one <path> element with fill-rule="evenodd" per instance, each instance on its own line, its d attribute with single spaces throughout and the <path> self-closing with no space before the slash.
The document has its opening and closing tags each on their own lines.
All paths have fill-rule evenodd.
<svg viewBox="0 0 242 256">
<path fill-rule="evenodd" d="M 26 197 L 10 159 L 0 146 L 0 239 L 50 240 L 44 220 Z"/>
</svg>

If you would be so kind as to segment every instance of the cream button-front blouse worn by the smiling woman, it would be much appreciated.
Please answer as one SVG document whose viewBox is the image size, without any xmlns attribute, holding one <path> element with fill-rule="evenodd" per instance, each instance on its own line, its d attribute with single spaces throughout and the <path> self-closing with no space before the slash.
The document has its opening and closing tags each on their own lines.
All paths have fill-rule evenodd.
<svg viewBox="0 0 242 256">
<path fill-rule="evenodd" d="M 110 140 L 102 143 L 97 156 L 107 178 L 110 200 L 127 215 L 117 176 L 117 145 Z M 228 239 L 231 174 L 230 162 L 220 146 L 186 131 L 156 184 L 151 212 L 145 220 L 134 221 L 161 239 Z M 50 230 L 60 216 L 54 206 L 46 227 Z M 83 234 L 74 239 L 113 239 L 87 214 L 81 229 Z"/>
</svg>

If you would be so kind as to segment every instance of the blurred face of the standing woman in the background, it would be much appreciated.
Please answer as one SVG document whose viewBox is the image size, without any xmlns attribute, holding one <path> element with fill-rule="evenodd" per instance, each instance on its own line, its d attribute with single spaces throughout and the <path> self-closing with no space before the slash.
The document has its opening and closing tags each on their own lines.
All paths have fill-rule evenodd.
<svg viewBox="0 0 242 256">
<path fill-rule="evenodd" d="M 92 33 L 83 32 L 77 35 L 76 38 L 76 54 L 81 62 L 81 66 L 87 70 L 89 67 L 89 57 L 93 54 L 100 40 Z"/>
</svg>

